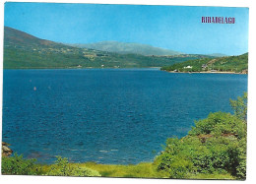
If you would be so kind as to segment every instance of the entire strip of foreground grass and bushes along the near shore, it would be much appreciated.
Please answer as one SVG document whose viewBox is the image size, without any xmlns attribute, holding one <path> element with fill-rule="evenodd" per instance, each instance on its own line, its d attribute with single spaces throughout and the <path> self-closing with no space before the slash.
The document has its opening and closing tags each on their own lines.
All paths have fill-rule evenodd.
<svg viewBox="0 0 256 184">
<path fill-rule="evenodd" d="M 247 93 L 230 100 L 234 114 L 216 112 L 195 122 L 188 135 L 169 138 L 154 162 L 137 165 L 69 163 L 41 165 L 22 155 L 2 157 L 3 174 L 186 179 L 246 178 Z"/>
</svg>

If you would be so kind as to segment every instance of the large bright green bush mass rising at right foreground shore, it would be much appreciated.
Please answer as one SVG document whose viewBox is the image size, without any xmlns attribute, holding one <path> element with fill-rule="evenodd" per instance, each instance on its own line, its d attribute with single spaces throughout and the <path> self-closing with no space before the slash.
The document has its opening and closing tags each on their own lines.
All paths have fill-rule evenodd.
<svg viewBox="0 0 256 184">
<path fill-rule="evenodd" d="M 206 119 L 195 121 L 188 136 L 167 139 L 164 151 L 155 159 L 158 170 L 169 173 L 171 178 L 230 173 L 237 179 L 245 179 L 246 100 L 244 94 L 231 101 L 234 110 L 237 109 L 234 115 L 210 113 Z"/>
</svg>

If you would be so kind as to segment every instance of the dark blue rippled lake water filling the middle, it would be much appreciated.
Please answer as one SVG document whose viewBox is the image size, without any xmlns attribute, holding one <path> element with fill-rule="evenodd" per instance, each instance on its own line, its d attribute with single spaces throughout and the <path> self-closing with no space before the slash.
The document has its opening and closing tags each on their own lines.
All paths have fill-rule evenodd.
<svg viewBox="0 0 256 184">
<path fill-rule="evenodd" d="M 210 112 L 231 112 L 247 75 L 156 69 L 4 70 L 3 141 L 52 163 L 152 161 L 166 138 Z"/>
</svg>

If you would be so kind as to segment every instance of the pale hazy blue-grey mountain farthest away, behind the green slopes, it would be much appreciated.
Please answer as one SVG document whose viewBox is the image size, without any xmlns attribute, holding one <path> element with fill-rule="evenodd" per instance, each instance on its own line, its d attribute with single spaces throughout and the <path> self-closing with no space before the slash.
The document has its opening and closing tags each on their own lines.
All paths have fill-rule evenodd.
<svg viewBox="0 0 256 184">
<path fill-rule="evenodd" d="M 101 51 L 116 52 L 121 54 L 141 54 L 141 55 L 156 55 L 156 56 L 166 56 L 166 55 L 180 55 L 181 52 L 168 50 L 164 48 L 154 47 L 148 44 L 141 43 L 126 43 L 119 41 L 100 41 L 96 43 L 88 44 L 70 44 L 71 46 L 76 46 L 80 48 L 92 48 Z"/>
</svg>

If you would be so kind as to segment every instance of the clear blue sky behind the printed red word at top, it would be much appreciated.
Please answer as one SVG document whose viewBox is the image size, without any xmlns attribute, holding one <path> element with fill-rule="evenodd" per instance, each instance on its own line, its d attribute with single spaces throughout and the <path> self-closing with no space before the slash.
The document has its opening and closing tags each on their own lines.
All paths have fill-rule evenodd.
<svg viewBox="0 0 256 184">
<path fill-rule="evenodd" d="M 202 24 L 202 16 L 235 24 Z M 138 42 L 184 53 L 248 52 L 248 9 L 226 7 L 5 3 L 4 24 L 65 43 Z"/>
</svg>

